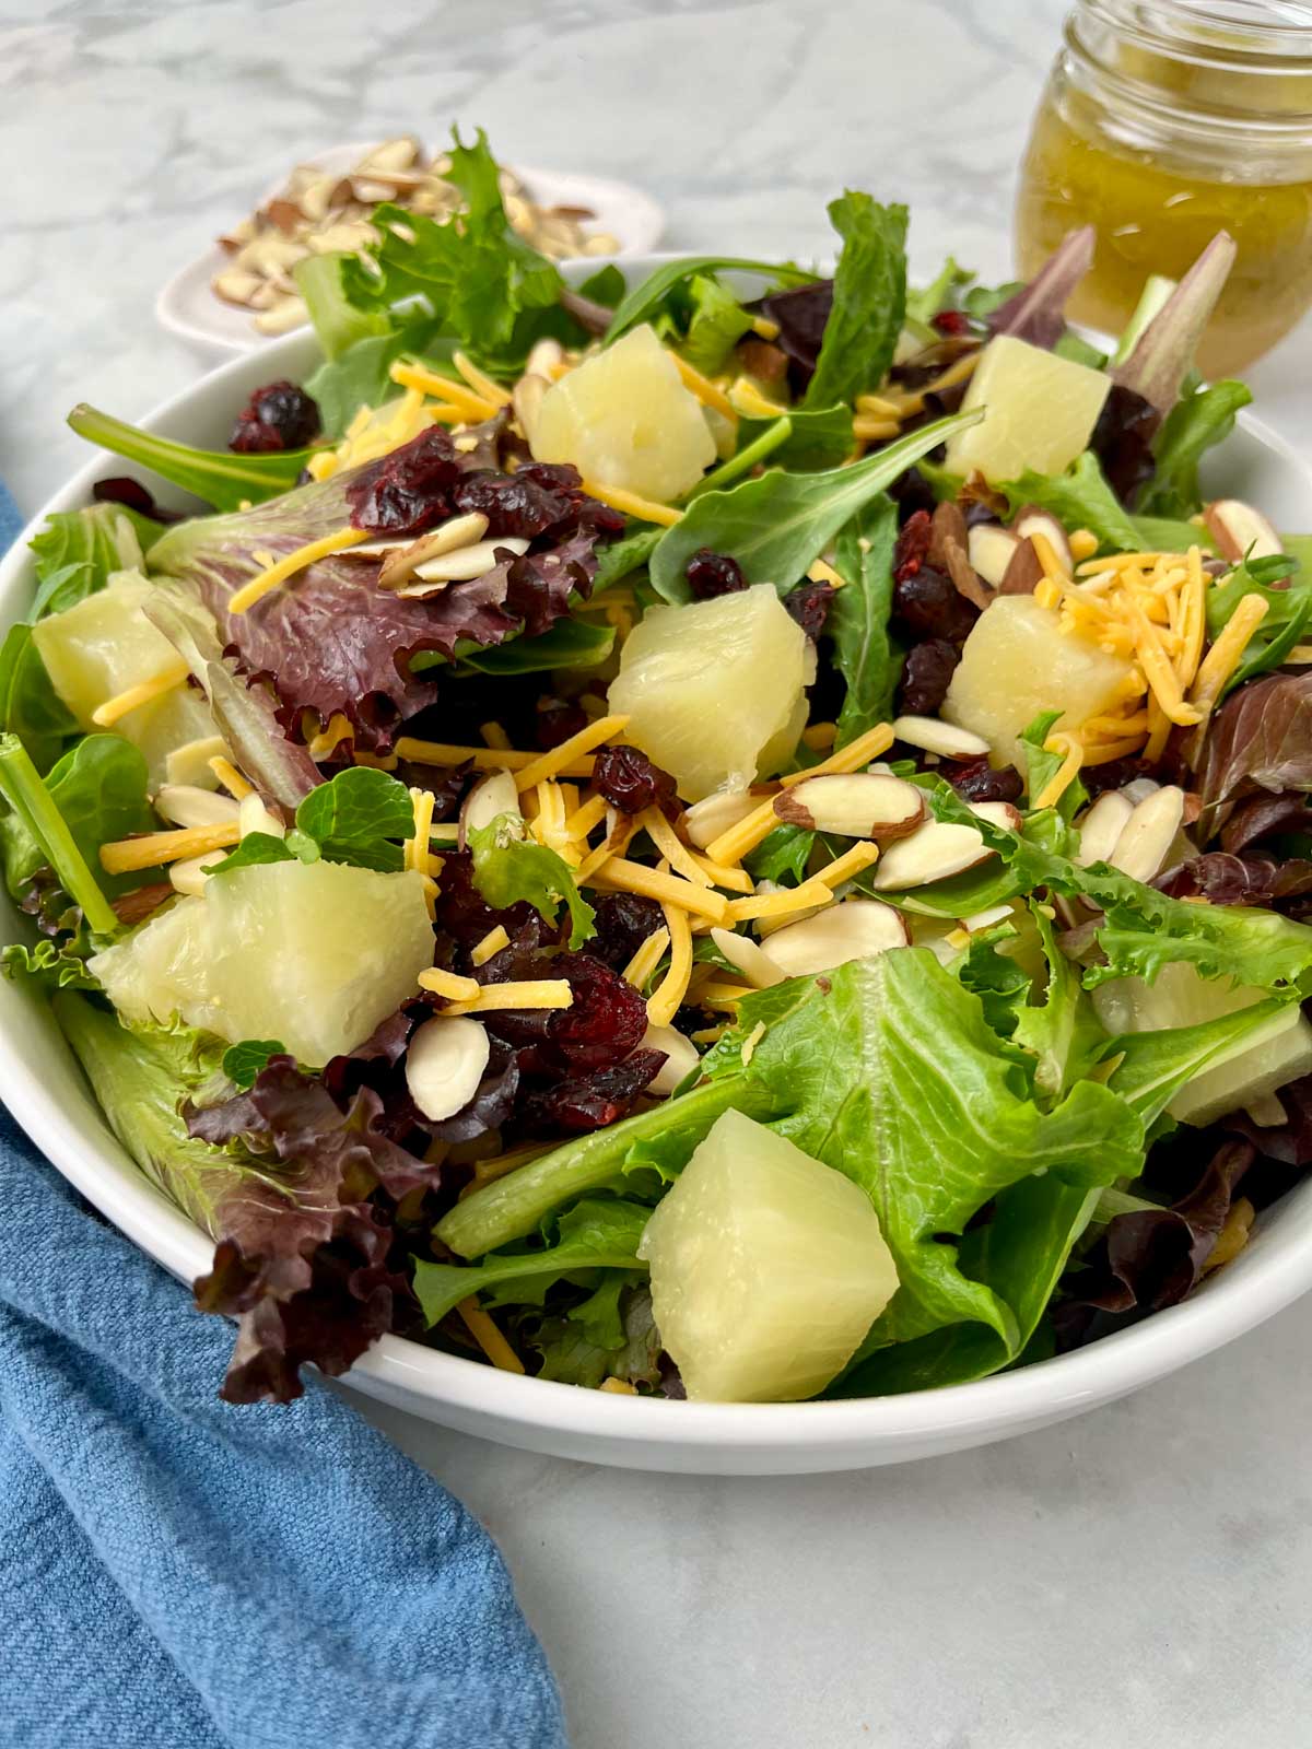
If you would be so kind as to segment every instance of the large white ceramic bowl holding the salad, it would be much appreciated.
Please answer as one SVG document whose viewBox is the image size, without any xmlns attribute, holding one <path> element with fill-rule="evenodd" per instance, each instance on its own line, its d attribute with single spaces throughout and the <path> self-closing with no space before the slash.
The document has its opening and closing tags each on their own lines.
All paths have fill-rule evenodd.
<svg viewBox="0 0 1312 1749">
<path fill-rule="evenodd" d="M 630 276 L 659 259 L 668 257 L 630 262 Z M 317 362 L 313 336 L 290 334 L 213 371 L 143 423 L 166 437 L 222 446 L 252 388 L 276 376 L 301 378 Z M 121 470 L 114 456 L 89 460 L 0 563 L 0 626 L 31 600 L 26 540 L 44 518 L 86 504 L 93 481 Z M 1312 474 L 1244 413 L 1209 472 L 1218 491 L 1253 498 L 1277 526 L 1305 528 L 1312 519 Z M 161 497 L 178 498 L 164 486 Z M 9 920 L 12 934 L 24 932 L 12 908 Z M 164 1268 L 192 1280 L 208 1266 L 206 1238 L 114 1139 L 42 999 L 3 979 L 0 1093 L 59 1172 Z M 462 1432 L 593 1464 L 705 1474 L 855 1469 L 959 1452 L 1079 1415 L 1197 1361 L 1309 1287 L 1312 1181 L 1270 1209 L 1242 1256 L 1184 1305 L 1074 1354 L 948 1390 L 841 1403 L 670 1403 L 520 1378 L 397 1336 L 371 1348 L 346 1383 Z"/>
</svg>

